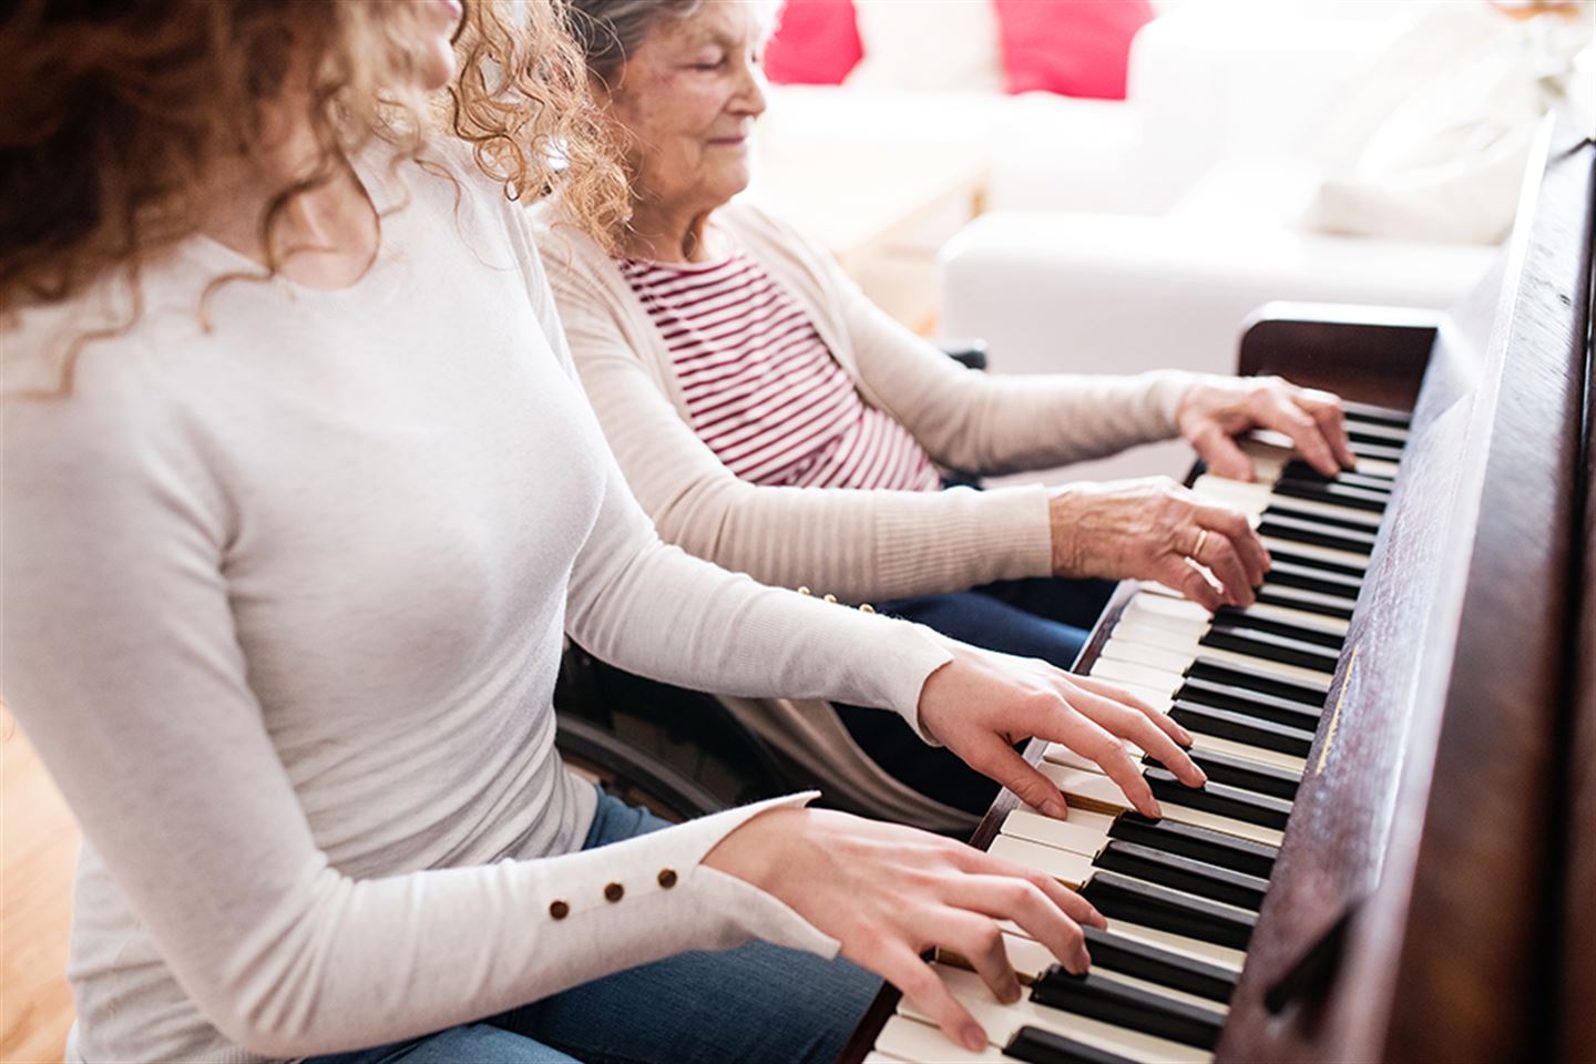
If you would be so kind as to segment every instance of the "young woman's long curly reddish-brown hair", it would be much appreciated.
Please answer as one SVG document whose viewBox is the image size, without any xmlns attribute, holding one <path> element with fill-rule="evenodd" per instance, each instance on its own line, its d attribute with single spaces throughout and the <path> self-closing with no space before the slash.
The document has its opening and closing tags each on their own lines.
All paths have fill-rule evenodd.
<svg viewBox="0 0 1596 1064">
<path fill-rule="evenodd" d="M 559 183 L 591 231 L 613 231 L 626 182 L 563 32 L 563 0 L 517 10 L 466 0 L 447 99 L 402 88 L 417 81 L 405 8 L 19 0 L 0 22 L 0 319 L 109 273 L 136 278 L 192 236 L 217 160 L 265 150 L 260 102 L 282 91 L 294 61 L 310 70 L 321 160 L 267 206 L 265 247 L 284 207 L 329 180 L 340 153 L 381 140 L 396 160 L 418 158 L 440 126 L 472 145 L 506 195 L 536 198 Z M 262 276 L 276 266 L 268 258 Z"/>
</svg>

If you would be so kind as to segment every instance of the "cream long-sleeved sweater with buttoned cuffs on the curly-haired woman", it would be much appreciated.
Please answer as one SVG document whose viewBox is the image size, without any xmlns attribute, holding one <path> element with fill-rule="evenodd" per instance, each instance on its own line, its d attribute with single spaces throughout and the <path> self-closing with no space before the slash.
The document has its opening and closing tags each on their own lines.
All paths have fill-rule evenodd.
<svg viewBox="0 0 1596 1064">
<path fill-rule="evenodd" d="M 85 830 L 88 1059 L 327 1053 L 683 949 L 836 948 L 701 866 L 752 810 L 573 852 L 594 796 L 552 748 L 562 632 L 666 681 L 911 719 L 946 651 L 661 544 L 525 212 L 444 164 L 458 209 L 405 166 L 353 287 L 228 284 L 207 330 L 200 290 L 246 263 L 196 238 L 69 397 L 5 402 L 3 697 Z M 107 301 L 27 314 L 6 391 Z"/>
</svg>

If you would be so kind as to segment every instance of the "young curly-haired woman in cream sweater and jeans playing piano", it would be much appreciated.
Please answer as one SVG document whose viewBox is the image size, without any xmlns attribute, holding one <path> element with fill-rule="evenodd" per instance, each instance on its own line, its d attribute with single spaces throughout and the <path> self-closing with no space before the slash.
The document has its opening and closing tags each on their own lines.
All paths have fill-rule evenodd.
<svg viewBox="0 0 1596 1064">
<path fill-rule="evenodd" d="M 24 0 L 0 27 L 3 697 L 85 831 L 73 1059 L 825 1061 L 868 973 L 980 1038 L 927 944 L 1005 999 L 999 919 L 1087 964 L 1090 906 L 967 847 L 804 796 L 674 828 L 602 798 L 552 748 L 565 630 L 897 710 L 1057 815 L 1015 739 L 1148 812 L 1120 737 L 1202 780 L 1112 688 L 658 541 L 504 196 L 559 145 L 597 228 L 614 203 L 559 18 Z M 474 152 L 425 134 L 456 30 Z"/>
</svg>

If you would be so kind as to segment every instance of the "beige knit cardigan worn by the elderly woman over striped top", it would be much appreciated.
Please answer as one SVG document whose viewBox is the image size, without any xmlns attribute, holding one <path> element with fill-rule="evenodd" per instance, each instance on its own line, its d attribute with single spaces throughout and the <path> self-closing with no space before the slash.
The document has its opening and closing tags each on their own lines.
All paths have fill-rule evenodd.
<svg viewBox="0 0 1596 1064">
<path fill-rule="evenodd" d="M 583 384 L 659 534 L 725 568 L 843 601 L 1052 573 L 1047 491 L 777 488 L 739 480 L 694 434 L 670 354 L 610 258 L 559 198 L 533 211 Z M 948 469 L 1001 474 L 1175 434 L 1191 373 L 998 376 L 950 361 L 876 308 L 832 257 L 742 199 L 713 225 L 809 314 L 870 405 Z"/>
</svg>

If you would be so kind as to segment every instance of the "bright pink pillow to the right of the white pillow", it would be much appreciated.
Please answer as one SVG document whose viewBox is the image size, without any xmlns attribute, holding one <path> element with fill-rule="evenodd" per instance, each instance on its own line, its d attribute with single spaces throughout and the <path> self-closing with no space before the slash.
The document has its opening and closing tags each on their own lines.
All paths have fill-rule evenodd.
<svg viewBox="0 0 1596 1064">
<path fill-rule="evenodd" d="M 1130 38 L 1149 0 L 993 0 L 1010 93 L 1125 99 Z"/>
</svg>

